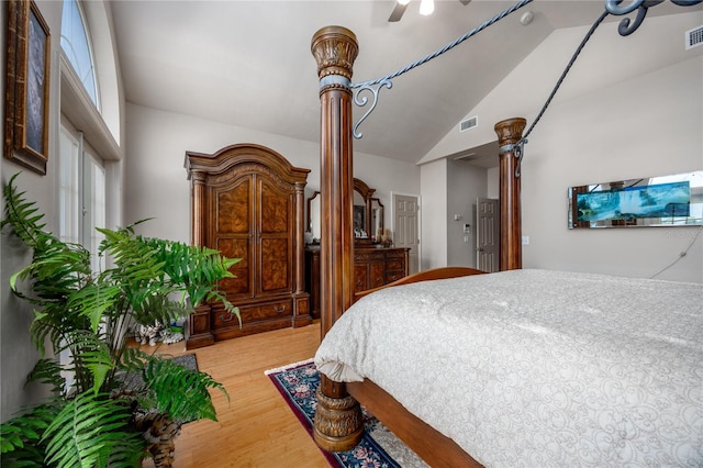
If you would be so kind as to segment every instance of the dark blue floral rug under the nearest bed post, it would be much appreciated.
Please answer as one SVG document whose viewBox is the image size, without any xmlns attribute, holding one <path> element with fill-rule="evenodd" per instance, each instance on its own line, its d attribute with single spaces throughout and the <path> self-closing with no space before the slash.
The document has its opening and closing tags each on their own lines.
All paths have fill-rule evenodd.
<svg viewBox="0 0 703 468">
<path fill-rule="evenodd" d="M 320 374 L 312 359 L 290 364 L 265 372 L 281 393 L 298 420 L 312 437 L 312 422 L 315 415 L 320 386 Z M 332 467 L 420 468 L 427 465 L 405 446 L 382 423 L 364 406 L 364 437 L 359 445 L 348 452 L 337 454 L 322 450 Z"/>
</svg>

